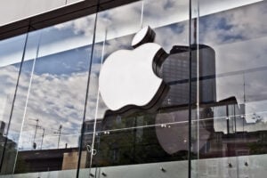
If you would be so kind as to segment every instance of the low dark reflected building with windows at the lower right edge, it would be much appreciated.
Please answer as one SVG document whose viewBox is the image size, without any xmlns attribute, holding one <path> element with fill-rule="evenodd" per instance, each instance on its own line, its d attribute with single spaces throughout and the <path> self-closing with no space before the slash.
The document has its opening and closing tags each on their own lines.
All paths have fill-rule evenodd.
<svg viewBox="0 0 267 178">
<path fill-rule="evenodd" d="M 213 133 L 199 151 L 200 158 L 223 158 L 264 154 L 267 150 L 266 131 Z"/>
</svg>

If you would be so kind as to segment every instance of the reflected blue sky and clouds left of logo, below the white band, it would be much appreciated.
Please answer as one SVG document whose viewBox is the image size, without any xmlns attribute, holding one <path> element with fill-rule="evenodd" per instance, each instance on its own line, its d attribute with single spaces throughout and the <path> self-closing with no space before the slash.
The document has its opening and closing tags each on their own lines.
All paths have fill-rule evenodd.
<svg viewBox="0 0 267 178">
<path fill-rule="evenodd" d="M 28 118 L 38 118 L 39 125 L 45 129 L 44 148 L 56 148 L 58 137 L 54 132 L 62 125 L 61 146 L 65 142 L 69 147 L 77 147 L 78 136 L 85 104 L 85 88 L 89 63 L 89 47 L 78 48 L 65 53 L 56 53 L 36 60 L 35 71 L 28 96 L 20 148 L 30 149 L 33 142 L 34 125 L 36 121 Z M 20 75 L 20 87 L 12 117 L 12 127 L 9 137 L 16 142 L 19 139 L 21 120 L 27 98 L 29 74 L 33 61 L 25 61 Z M 8 90 L 14 89 L 16 75 L 20 64 L 3 68 L 1 77 L 11 79 L 1 83 L 6 88 L 0 98 L 5 100 Z M 10 85 L 11 83 L 11 85 Z M 10 112 L 4 113 L 3 120 L 7 122 Z M 39 148 L 42 130 L 37 130 L 36 143 Z M 64 143 L 64 144 L 63 144 Z M 48 147 L 48 145 L 50 145 Z"/>
</svg>

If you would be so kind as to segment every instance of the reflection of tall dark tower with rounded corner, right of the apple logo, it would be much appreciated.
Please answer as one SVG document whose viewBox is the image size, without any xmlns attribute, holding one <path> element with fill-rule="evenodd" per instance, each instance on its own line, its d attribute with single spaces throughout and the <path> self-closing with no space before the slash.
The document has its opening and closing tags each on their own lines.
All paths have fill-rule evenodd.
<svg viewBox="0 0 267 178">
<path fill-rule="evenodd" d="M 197 58 L 198 57 L 198 58 Z M 198 60 L 198 61 L 197 61 Z M 199 72 L 197 74 L 197 62 Z M 168 105 L 188 104 L 189 100 L 189 47 L 174 45 L 163 63 L 161 75 L 170 91 L 163 103 Z M 197 79 L 199 79 L 199 102 L 216 101 L 215 53 L 204 44 L 192 47 L 192 102 L 197 101 Z"/>
</svg>

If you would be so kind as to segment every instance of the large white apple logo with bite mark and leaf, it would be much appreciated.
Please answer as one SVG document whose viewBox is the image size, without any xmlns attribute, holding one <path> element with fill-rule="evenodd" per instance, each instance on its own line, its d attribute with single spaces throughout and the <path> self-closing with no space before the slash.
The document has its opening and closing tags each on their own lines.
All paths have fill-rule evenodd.
<svg viewBox="0 0 267 178">
<path fill-rule="evenodd" d="M 134 50 L 111 53 L 103 62 L 99 90 L 110 110 L 157 109 L 166 96 L 169 86 L 158 73 L 167 53 L 154 38 L 150 27 L 142 28 L 132 41 Z"/>
</svg>

